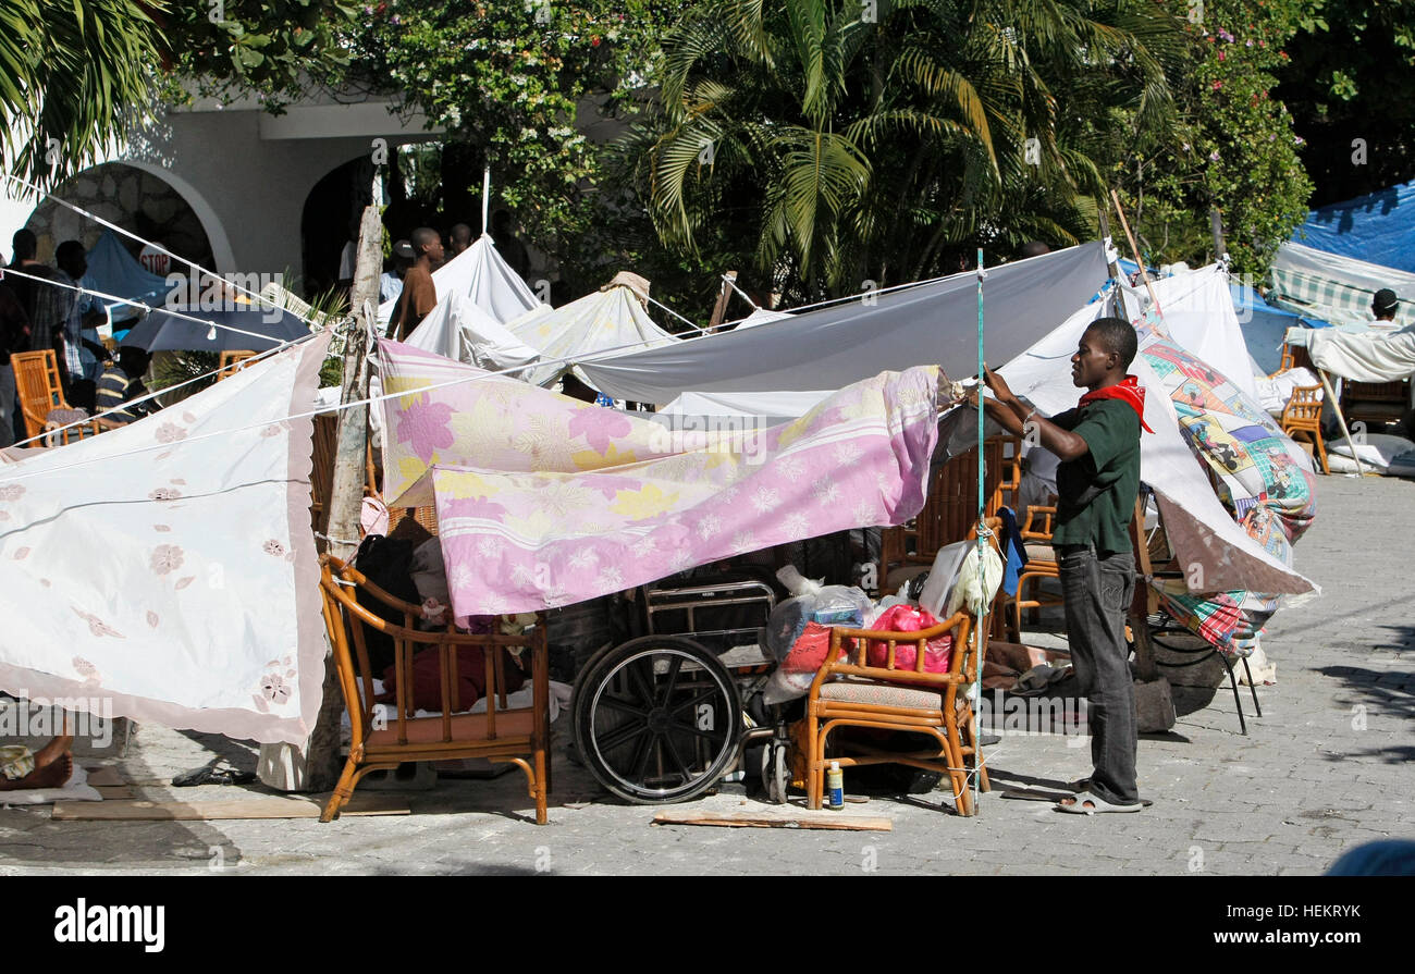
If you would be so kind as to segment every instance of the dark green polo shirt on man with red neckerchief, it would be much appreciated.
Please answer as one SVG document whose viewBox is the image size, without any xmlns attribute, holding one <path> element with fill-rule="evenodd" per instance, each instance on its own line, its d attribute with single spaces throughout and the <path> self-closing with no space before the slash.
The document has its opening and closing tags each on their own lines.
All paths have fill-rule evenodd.
<svg viewBox="0 0 1415 974">
<path fill-rule="evenodd" d="M 1085 456 L 1057 466 L 1051 544 L 1095 545 L 1102 555 L 1131 551 L 1129 528 L 1140 487 L 1140 418 L 1119 399 L 1101 399 L 1067 409 L 1051 422 L 1084 439 L 1088 447 Z"/>
</svg>

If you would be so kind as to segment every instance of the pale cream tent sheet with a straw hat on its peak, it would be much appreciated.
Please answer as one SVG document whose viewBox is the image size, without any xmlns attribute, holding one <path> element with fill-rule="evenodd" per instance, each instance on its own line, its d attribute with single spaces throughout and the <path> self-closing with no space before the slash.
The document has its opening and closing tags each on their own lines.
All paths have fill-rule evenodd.
<svg viewBox="0 0 1415 974">
<path fill-rule="evenodd" d="M 679 341 L 654 324 L 633 287 L 618 283 L 606 285 L 593 294 L 555 310 L 541 306 L 508 321 L 507 328 L 519 341 L 538 350 L 542 360 L 556 360 L 525 374 L 533 385 L 549 385 L 570 371 L 573 364 L 607 350 L 613 354 L 624 348 L 655 348 Z"/>
</svg>

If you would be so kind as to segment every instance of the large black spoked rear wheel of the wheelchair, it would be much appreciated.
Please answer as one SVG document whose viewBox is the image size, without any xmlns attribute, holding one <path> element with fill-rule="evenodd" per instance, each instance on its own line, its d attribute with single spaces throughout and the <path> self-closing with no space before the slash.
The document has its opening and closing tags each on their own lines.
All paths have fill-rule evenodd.
<svg viewBox="0 0 1415 974">
<path fill-rule="evenodd" d="M 741 701 L 717 657 L 674 636 L 606 647 L 574 689 L 580 755 L 613 794 L 635 804 L 693 798 L 737 757 Z"/>
</svg>

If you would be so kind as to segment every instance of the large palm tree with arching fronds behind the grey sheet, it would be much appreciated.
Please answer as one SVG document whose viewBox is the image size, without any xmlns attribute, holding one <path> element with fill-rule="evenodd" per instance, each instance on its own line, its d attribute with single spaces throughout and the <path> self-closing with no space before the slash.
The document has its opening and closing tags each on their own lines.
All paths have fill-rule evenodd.
<svg viewBox="0 0 1415 974">
<path fill-rule="evenodd" d="M 709 0 L 665 40 L 637 133 L 655 225 L 688 252 L 732 227 L 804 299 L 955 269 L 965 245 L 1075 242 L 1104 178 L 1054 85 L 1090 118 L 1163 120 L 1179 35 L 1133 0 Z"/>
</svg>

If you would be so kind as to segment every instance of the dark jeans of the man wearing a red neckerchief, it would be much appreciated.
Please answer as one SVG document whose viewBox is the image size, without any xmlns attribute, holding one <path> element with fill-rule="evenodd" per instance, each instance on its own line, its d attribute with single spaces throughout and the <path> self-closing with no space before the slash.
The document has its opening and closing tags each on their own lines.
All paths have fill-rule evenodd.
<svg viewBox="0 0 1415 974">
<path fill-rule="evenodd" d="M 1091 794 L 1135 804 L 1135 682 L 1125 648 L 1125 614 L 1135 596 L 1135 556 L 1098 556 L 1090 545 L 1064 545 L 1057 554 L 1065 631 L 1091 732 Z"/>
</svg>

